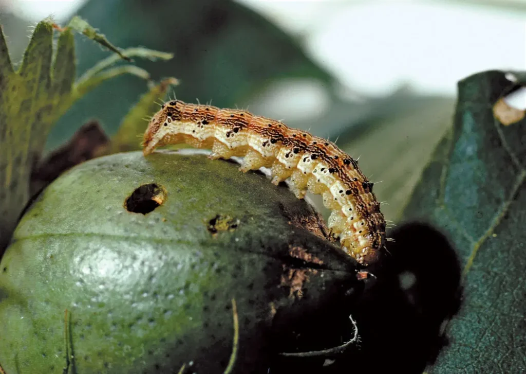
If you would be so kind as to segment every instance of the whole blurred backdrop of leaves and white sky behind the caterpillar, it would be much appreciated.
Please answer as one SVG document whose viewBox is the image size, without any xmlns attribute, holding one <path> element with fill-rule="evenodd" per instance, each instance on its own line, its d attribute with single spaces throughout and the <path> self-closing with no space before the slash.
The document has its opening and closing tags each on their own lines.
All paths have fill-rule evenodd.
<svg viewBox="0 0 526 374">
<path fill-rule="evenodd" d="M 248 108 L 337 140 L 360 157 L 395 222 L 452 123 L 457 82 L 526 69 L 526 0 L 0 0 L 12 60 L 37 21 L 75 14 L 119 47 L 174 53 L 136 64 L 157 81 L 178 78 L 178 99 Z M 77 43 L 78 75 L 109 54 Z M 46 149 L 90 119 L 112 135 L 146 90 L 132 76 L 103 84 L 57 123 Z M 525 97 L 513 105 L 526 107 Z"/>
</svg>

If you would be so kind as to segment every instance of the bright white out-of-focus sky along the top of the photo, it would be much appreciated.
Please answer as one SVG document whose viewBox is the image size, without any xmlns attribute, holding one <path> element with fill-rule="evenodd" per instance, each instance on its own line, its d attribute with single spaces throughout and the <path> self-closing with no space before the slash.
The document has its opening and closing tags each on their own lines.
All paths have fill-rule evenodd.
<svg viewBox="0 0 526 374">
<path fill-rule="evenodd" d="M 67 17 L 83 3 L 0 1 L 35 21 L 50 13 Z M 314 60 L 367 95 L 386 95 L 401 84 L 454 95 L 457 81 L 472 73 L 526 70 L 526 12 L 461 1 L 237 1 L 301 36 Z M 305 89 L 295 91 L 308 95 Z M 312 94 L 320 95 L 316 87 Z"/>
</svg>

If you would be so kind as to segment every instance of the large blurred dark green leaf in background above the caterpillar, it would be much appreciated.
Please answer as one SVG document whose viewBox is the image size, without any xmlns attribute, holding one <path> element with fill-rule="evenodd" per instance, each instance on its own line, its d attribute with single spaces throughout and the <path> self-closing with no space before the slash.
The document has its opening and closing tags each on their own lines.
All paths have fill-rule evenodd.
<svg viewBox="0 0 526 374">
<path fill-rule="evenodd" d="M 117 45 L 147 45 L 173 53 L 167 63 L 137 61 L 137 66 L 150 72 L 154 81 L 177 77 L 177 99 L 187 102 L 198 99 L 236 107 L 247 105 L 250 95 L 281 78 L 308 77 L 326 86 L 334 81 L 294 38 L 234 1 L 159 0 L 152 7 L 143 0 L 90 0 L 78 14 L 111 35 Z M 77 51 L 81 73 L 103 58 L 103 51 L 93 51 L 89 43 L 78 45 Z M 94 107 L 105 132 L 115 134 L 143 92 L 141 82 L 130 77 L 101 85 L 60 119 L 48 149 L 68 139 L 74 132 L 69 124 L 85 122 Z"/>
</svg>

